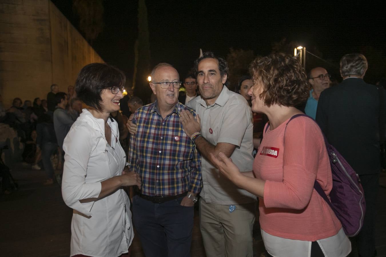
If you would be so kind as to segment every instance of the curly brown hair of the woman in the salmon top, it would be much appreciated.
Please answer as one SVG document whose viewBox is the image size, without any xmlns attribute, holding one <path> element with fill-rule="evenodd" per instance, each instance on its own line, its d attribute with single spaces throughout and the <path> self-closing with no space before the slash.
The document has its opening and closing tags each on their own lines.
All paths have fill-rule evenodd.
<svg viewBox="0 0 386 257">
<path fill-rule="evenodd" d="M 266 106 L 298 106 L 309 94 L 307 75 L 300 62 L 287 54 L 258 56 L 249 67 L 254 84 L 262 82 L 260 94 Z"/>
</svg>

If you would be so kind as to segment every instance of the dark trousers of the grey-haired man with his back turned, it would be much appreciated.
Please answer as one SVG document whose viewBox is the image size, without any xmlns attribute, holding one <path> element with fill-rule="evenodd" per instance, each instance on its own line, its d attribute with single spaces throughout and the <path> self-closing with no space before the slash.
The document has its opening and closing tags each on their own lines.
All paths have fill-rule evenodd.
<svg viewBox="0 0 386 257">
<path fill-rule="evenodd" d="M 359 256 L 375 256 L 375 220 L 377 212 L 377 197 L 379 190 L 379 174 L 359 175 L 366 200 L 366 213 L 364 215 L 363 227 L 356 236 Z"/>
</svg>

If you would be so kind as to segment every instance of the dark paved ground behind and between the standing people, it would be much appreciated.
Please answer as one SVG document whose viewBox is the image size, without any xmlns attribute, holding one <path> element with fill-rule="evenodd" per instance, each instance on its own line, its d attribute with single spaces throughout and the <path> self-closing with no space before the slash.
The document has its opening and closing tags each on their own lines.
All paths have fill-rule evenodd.
<svg viewBox="0 0 386 257">
<path fill-rule="evenodd" d="M 72 211 L 62 198 L 59 185 L 44 186 L 44 171 L 14 168 L 19 190 L 0 196 L 0 255 L 4 257 L 68 256 Z M 386 257 L 386 173 L 381 174 L 379 190 L 376 244 L 378 256 Z M 192 257 L 205 256 L 195 213 Z M 132 256 L 142 257 L 141 245 L 134 239 Z M 260 256 L 264 246 L 256 227 L 254 256 Z M 357 256 L 356 247 L 349 256 Z"/>
</svg>

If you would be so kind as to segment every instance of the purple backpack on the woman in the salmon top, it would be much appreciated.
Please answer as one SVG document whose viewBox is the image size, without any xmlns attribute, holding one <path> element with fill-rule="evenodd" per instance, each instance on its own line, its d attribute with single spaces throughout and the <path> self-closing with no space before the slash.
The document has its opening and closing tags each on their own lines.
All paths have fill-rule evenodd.
<svg viewBox="0 0 386 257">
<path fill-rule="evenodd" d="M 292 116 L 289 121 L 299 116 L 310 118 L 305 114 L 296 114 Z M 312 120 L 314 121 L 314 119 Z M 314 122 L 316 123 L 316 121 Z M 330 192 L 330 200 L 328 200 L 327 195 L 316 180 L 314 188 L 328 203 L 328 205 L 330 205 L 335 215 L 340 220 L 340 223 L 342 223 L 342 227 L 346 235 L 354 237 L 362 228 L 364 213 L 366 210 L 361 181 L 359 180 L 358 174 L 351 168 L 343 156 L 340 155 L 337 149 L 328 143 L 324 134 L 323 137 L 328 157 L 330 158 L 332 172 L 332 190 Z"/>
</svg>

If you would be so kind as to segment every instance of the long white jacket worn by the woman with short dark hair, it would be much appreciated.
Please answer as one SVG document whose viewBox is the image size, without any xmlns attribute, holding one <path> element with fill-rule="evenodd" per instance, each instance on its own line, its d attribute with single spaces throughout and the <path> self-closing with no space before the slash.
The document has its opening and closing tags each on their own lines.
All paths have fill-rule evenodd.
<svg viewBox="0 0 386 257">
<path fill-rule="evenodd" d="M 64 139 L 63 200 L 73 208 L 70 256 L 116 257 L 129 248 L 134 237 L 130 202 L 119 188 L 97 201 L 101 181 L 121 175 L 126 164 L 119 143 L 118 124 L 108 119 L 111 146 L 105 138 L 105 122 L 83 109 Z"/>
</svg>

